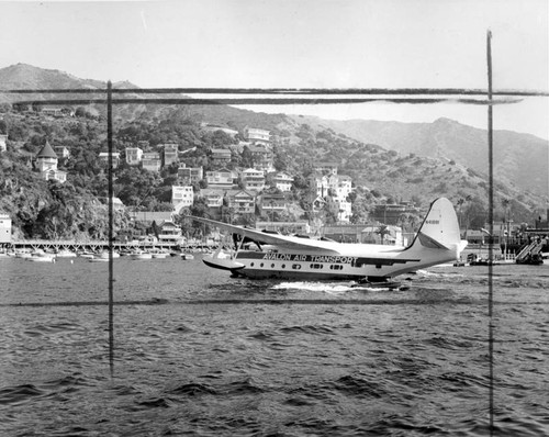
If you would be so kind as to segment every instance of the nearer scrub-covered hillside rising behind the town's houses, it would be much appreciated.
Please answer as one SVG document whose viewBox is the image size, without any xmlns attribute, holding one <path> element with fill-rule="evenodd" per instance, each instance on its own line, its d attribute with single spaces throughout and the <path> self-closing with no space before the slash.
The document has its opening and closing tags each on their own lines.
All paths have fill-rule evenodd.
<svg viewBox="0 0 549 437">
<path fill-rule="evenodd" d="M 9 88 L 104 86 L 64 72 L 22 65 L 1 69 L 0 77 L 5 79 Z M 132 88 L 132 85 L 121 83 L 121 87 Z M 96 107 L 94 111 L 90 108 L 71 110 L 76 116 L 52 117 L 42 114 L 40 108 L 0 105 L 0 131 L 9 135 L 8 152 L 1 155 L 0 209 L 15 216 L 14 223 L 23 236 L 86 237 L 107 234 L 107 222 L 101 221 L 101 214 L 98 213 L 104 214 L 101 199 L 107 195 L 104 168 L 98 160 L 99 153 L 105 148 L 104 105 Z M 202 128 L 203 122 L 232 127 L 240 135 L 231 138 L 222 132 L 212 133 Z M 349 200 L 352 203 L 351 220 L 355 222 L 368 222 L 369 212 L 377 204 L 412 202 L 425 209 L 435 198 L 444 195 L 456 205 L 461 205 L 460 210 L 463 211 L 460 214 L 469 217 L 471 225 L 480 227 L 484 224 L 488 217 L 484 169 L 479 171 L 475 169 L 477 163 L 468 166 L 461 160 L 467 158 L 474 161 L 474 156 L 479 160 L 478 149 L 485 143 L 485 133 L 481 130 L 449 120 L 421 126 L 381 122 L 349 122 L 345 125 L 345 122 L 340 122 L 344 123 L 343 127 L 337 127 L 337 122 L 330 127 L 332 123 L 336 122 L 256 113 L 219 104 L 115 107 L 114 141 L 122 153 L 122 165 L 115 170 L 114 193 L 131 208 L 149 211 L 171 208 L 171 186 L 178 183 L 177 167 L 167 167 L 160 173 L 130 168 L 124 164 L 125 147 L 147 142 L 149 152 L 159 152 L 161 144 L 176 143 L 180 152 L 190 152 L 183 154 L 181 161 L 188 167 L 203 167 L 204 172 L 216 169 L 211 149 L 229 147 L 233 148 L 233 158 L 228 167 L 243 169 L 253 166 L 253 160 L 245 149 L 236 147 L 236 143 L 242 138 L 244 127 L 249 125 L 271 131 L 276 169 L 295 178 L 288 197 L 292 205 L 289 209 L 292 213 L 285 217 L 288 220 L 309 218 L 304 212 L 310 211 L 311 202 L 316 197 L 314 165 L 317 161 L 333 161 L 337 164 L 340 175 L 352 178 L 355 192 Z M 355 124 L 359 126 L 357 131 L 349 132 L 349 126 Z M 373 139 L 357 138 L 359 134 L 367 136 L 367 125 L 371 126 L 369 135 Z M 503 133 L 504 136 L 506 134 Z M 505 138 L 511 138 L 506 139 L 509 144 L 513 141 L 529 144 L 531 139 L 515 135 L 518 134 Z M 459 141 L 451 142 L 449 138 Z M 63 189 L 52 182 L 45 184 L 32 171 L 31 158 L 46 141 L 52 146 L 70 149 L 70 159 L 61 166 L 67 171 L 67 182 Z M 410 149 L 391 149 L 401 142 L 408 145 Z M 468 147 L 462 154 L 452 155 L 455 152 L 450 146 L 459 142 L 467 143 Z M 424 143 L 428 146 L 423 146 Z M 509 145 L 508 149 L 513 150 L 513 147 Z M 428 156 L 423 156 L 423 153 Z M 520 160 L 518 157 L 519 154 L 508 152 L 504 164 L 500 164 L 509 170 L 503 178 L 496 175 L 495 220 L 503 218 L 503 204 L 508 200 L 515 222 L 533 223 L 538 215 L 545 216 L 545 199 L 512 180 L 515 175 L 513 167 L 518 166 Z M 533 164 L 533 168 L 537 167 Z M 547 176 L 547 172 L 544 175 Z M 530 177 L 534 176 L 533 171 Z M 204 181 L 201 182 L 203 188 Z M 195 192 L 200 188 L 197 184 Z M 81 209 L 78 199 L 82 200 Z M 206 213 L 200 200 L 195 213 Z M 337 220 L 333 214 L 324 218 Z M 126 220 L 121 216 L 119 223 L 122 225 Z M 52 223 L 56 225 L 52 227 Z"/>
</svg>

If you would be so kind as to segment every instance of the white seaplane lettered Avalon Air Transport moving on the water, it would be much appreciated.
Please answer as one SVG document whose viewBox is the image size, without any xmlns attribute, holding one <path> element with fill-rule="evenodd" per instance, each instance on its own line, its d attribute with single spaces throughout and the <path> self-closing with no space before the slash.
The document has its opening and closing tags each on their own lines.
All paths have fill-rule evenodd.
<svg viewBox="0 0 549 437">
<path fill-rule="evenodd" d="M 451 202 L 435 200 L 408 246 L 346 244 L 299 235 L 247 228 L 189 216 L 231 233 L 235 247 L 203 257 L 212 268 L 233 277 L 283 280 L 351 280 L 357 283 L 392 284 L 399 274 L 456 261 L 467 242 L 460 238 Z"/>
</svg>

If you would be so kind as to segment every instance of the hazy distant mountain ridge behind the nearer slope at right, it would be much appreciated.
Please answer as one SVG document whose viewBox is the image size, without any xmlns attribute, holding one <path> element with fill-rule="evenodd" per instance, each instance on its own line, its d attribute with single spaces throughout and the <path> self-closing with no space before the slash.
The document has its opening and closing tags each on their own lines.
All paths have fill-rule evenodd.
<svg viewBox="0 0 549 437">
<path fill-rule="evenodd" d="M 480 173 L 488 173 L 488 134 L 448 119 L 434 123 L 367 120 L 334 121 L 293 117 L 320 128 L 333 128 L 365 143 L 403 154 L 447 158 Z M 494 131 L 494 176 L 523 191 L 547 197 L 549 143 L 534 135 Z"/>
</svg>

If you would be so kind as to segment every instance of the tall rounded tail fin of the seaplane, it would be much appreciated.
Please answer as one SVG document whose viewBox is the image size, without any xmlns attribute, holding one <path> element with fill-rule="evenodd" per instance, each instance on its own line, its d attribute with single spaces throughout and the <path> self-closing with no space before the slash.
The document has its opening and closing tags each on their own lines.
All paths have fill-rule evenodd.
<svg viewBox="0 0 549 437">
<path fill-rule="evenodd" d="M 446 249 L 456 253 L 456 259 L 467 246 L 459 233 L 458 217 L 453 205 L 446 198 L 439 198 L 430 204 L 411 247 L 423 246 L 430 249 Z"/>
</svg>

